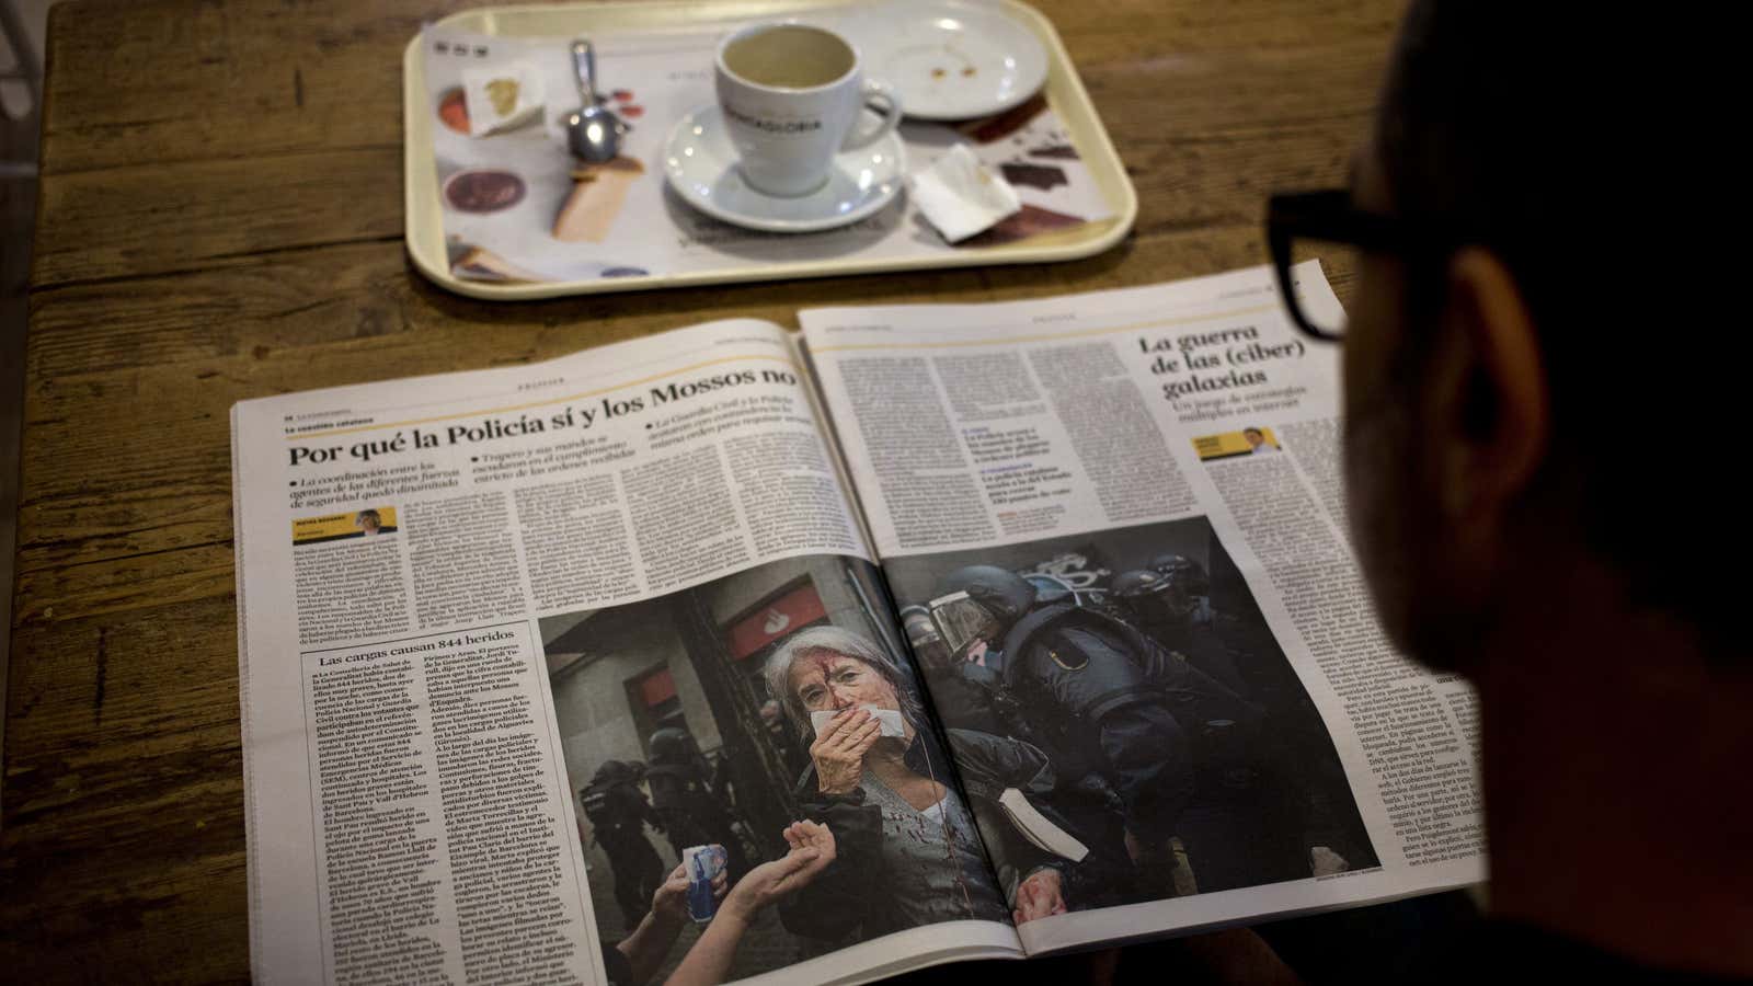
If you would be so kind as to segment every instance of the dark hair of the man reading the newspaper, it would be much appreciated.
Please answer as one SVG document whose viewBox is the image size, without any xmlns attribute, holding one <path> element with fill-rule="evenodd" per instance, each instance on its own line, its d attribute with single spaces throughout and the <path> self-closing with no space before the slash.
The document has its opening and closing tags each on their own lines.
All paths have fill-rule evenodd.
<svg viewBox="0 0 1753 986">
<path fill-rule="evenodd" d="M 1376 149 L 1399 218 L 1483 246 L 1515 275 L 1551 388 L 1539 488 L 1583 500 L 1583 537 L 1643 602 L 1704 626 L 1734 609 L 1735 579 L 1713 558 L 1739 556 L 1739 540 L 1676 526 L 1716 489 L 1735 509 L 1720 481 L 1723 437 L 1693 423 L 1737 418 L 1741 388 L 1737 360 L 1693 347 L 1735 318 L 1728 258 L 1744 247 L 1688 249 L 1697 221 L 1727 212 L 1742 184 L 1723 144 L 1739 86 L 1699 75 L 1739 60 L 1718 58 L 1727 37 L 1713 39 L 1737 32 L 1681 21 L 1413 0 Z M 1441 265 L 1408 268 L 1415 323 L 1441 309 L 1443 284 Z"/>
</svg>

